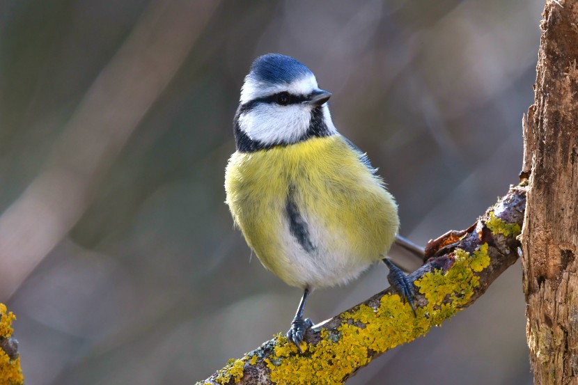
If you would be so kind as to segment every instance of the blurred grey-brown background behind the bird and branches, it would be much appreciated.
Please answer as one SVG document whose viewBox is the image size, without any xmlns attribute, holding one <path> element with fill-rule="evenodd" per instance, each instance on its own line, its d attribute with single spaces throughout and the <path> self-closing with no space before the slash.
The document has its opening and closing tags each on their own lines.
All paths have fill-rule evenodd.
<svg viewBox="0 0 578 385">
<path fill-rule="evenodd" d="M 274 333 L 301 291 L 224 204 L 253 58 L 333 93 L 336 127 L 425 244 L 467 228 L 522 162 L 544 0 L 0 1 L 0 301 L 26 384 L 190 384 Z M 349 384 L 531 384 L 520 265 Z M 320 322 L 386 286 L 318 290 Z"/>
</svg>

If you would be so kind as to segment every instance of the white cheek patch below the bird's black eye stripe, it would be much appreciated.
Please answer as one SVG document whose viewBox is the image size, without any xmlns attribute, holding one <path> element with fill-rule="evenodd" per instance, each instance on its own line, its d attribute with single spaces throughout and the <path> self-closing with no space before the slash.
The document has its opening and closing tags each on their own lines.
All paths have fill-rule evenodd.
<svg viewBox="0 0 578 385">
<path fill-rule="evenodd" d="M 239 117 L 239 128 L 265 145 L 295 143 L 309 128 L 311 110 L 301 104 L 261 103 Z"/>
</svg>

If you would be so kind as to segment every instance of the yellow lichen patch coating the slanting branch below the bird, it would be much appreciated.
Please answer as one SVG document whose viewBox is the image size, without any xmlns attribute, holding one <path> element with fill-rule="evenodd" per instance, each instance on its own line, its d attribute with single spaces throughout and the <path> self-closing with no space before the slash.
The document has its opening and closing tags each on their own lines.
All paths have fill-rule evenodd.
<svg viewBox="0 0 578 385">
<path fill-rule="evenodd" d="M 375 308 L 361 305 L 343 313 L 338 336 L 321 329 L 321 340 L 302 345 L 304 354 L 277 336 L 274 354 L 266 359 L 270 379 L 276 384 L 341 384 L 373 354 L 380 354 L 428 333 L 466 305 L 479 285 L 476 272 L 490 265 L 487 244 L 474 253 L 456 250 L 455 262 L 446 272 L 436 270 L 414 282 L 428 304 L 412 308 L 398 294 L 386 294 Z"/>
</svg>

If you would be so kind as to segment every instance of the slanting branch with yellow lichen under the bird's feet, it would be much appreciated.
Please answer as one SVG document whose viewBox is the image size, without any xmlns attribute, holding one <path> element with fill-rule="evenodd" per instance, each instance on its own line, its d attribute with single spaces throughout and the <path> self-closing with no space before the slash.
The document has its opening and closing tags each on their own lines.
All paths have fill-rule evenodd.
<svg viewBox="0 0 578 385">
<path fill-rule="evenodd" d="M 198 384 L 341 384 L 372 359 L 423 336 L 480 297 L 518 257 L 526 187 L 510 187 L 474 225 L 428 243 L 409 278 L 416 316 L 391 289 L 316 325 L 303 354 L 279 335 Z"/>
</svg>

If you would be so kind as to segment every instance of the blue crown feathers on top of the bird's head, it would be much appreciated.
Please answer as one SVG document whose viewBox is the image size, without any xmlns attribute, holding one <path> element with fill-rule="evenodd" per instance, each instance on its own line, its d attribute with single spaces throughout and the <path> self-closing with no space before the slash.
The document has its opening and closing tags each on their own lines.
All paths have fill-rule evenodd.
<svg viewBox="0 0 578 385">
<path fill-rule="evenodd" d="M 308 74 L 313 72 L 290 56 L 266 54 L 253 61 L 249 77 L 267 83 L 290 83 Z"/>
</svg>

